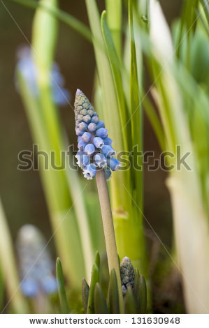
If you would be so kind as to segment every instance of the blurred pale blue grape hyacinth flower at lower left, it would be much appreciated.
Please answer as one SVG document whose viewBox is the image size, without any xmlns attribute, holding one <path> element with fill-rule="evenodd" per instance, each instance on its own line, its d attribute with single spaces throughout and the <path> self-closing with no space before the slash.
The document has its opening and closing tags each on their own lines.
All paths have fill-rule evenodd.
<svg viewBox="0 0 209 328">
<path fill-rule="evenodd" d="M 20 263 L 22 293 L 36 297 L 57 291 L 57 281 L 52 274 L 50 253 L 45 249 L 45 238 L 34 225 L 23 225 L 17 236 L 17 253 Z"/>
</svg>

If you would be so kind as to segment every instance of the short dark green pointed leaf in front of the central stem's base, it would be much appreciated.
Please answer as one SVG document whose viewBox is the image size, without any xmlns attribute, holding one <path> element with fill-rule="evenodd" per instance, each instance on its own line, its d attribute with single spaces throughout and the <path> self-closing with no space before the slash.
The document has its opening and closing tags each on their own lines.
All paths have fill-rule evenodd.
<svg viewBox="0 0 209 328">
<path fill-rule="evenodd" d="M 117 290 L 117 277 L 115 269 L 110 272 L 110 282 L 108 289 L 108 307 L 111 314 L 120 313 L 119 296 Z"/>
</svg>

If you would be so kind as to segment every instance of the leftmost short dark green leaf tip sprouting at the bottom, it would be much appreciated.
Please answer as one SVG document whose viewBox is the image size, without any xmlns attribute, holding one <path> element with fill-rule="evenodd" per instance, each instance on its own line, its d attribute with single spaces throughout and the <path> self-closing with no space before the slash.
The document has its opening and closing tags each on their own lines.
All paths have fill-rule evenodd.
<svg viewBox="0 0 209 328">
<path fill-rule="evenodd" d="M 64 276 L 62 271 L 62 263 L 60 258 L 57 258 L 56 262 L 56 276 L 57 276 L 57 288 L 59 294 L 59 304 L 63 314 L 70 313 L 68 300 L 66 297 L 66 291 L 64 286 Z"/>
</svg>

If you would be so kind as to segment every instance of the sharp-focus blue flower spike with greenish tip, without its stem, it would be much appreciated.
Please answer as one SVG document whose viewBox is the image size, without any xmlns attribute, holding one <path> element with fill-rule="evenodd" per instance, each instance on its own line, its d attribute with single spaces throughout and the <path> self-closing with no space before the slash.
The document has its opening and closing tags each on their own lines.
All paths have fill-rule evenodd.
<svg viewBox="0 0 209 328">
<path fill-rule="evenodd" d="M 111 170 L 117 171 L 121 164 L 112 147 L 113 140 L 108 137 L 108 130 L 85 94 L 79 89 L 75 94 L 75 133 L 78 135 L 78 166 L 83 170 L 84 177 L 92 180 L 96 170 L 104 169 L 106 179 Z"/>
</svg>

